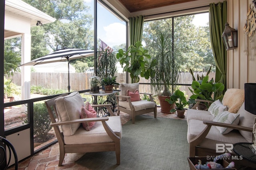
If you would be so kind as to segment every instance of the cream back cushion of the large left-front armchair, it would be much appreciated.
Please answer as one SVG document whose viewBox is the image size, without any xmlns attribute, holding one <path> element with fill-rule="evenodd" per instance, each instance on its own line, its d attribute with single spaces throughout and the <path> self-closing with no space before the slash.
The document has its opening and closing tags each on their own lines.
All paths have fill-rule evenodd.
<svg viewBox="0 0 256 170">
<path fill-rule="evenodd" d="M 60 96 L 54 101 L 60 121 L 80 119 L 81 107 L 84 106 L 84 101 L 78 92 L 72 92 L 67 96 Z M 62 125 L 63 135 L 74 135 L 79 126 L 80 123 Z"/>
</svg>

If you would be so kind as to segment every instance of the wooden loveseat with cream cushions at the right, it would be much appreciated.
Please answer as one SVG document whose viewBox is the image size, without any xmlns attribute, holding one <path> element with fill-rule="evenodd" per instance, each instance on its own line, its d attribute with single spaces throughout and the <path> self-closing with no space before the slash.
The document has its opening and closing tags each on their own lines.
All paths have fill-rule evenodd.
<svg viewBox="0 0 256 170">
<path fill-rule="evenodd" d="M 234 100 L 234 98 L 236 98 L 236 100 Z M 213 106 L 215 109 L 212 109 L 213 107 L 210 109 L 209 107 L 208 111 L 198 109 L 187 110 L 187 140 L 190 144 L 190 157 L 219 155 L 221 153 L 216 152 L 216 144 L 252 143 L 252 127 L 254 125 L 255 115 L 244 109 L 243 90 L 228 89 L 224 94 L 223 100 L 224 99 L 231 99 L 231 101 L 227 100 L 225 103 L 228 109 L 232 108 L 233 112 L 230 114 L 236 115 L 236 118 L 239 120 L 238 122 L 236 121 L 237 119 L 234 119 L 232 122 L 228 123 L 228 121 L 225 121 L 228 120 L 228 117 L 223 117 L 225 123 L 216 121 L 216 117 L 229 111 L 225 111 L 226 105 L 224 106 L 223 104 L 218 107 L 217 105 Z M 234 104 L 234 102 L 236 102 L 236 104 Z M 220 108 L 223 110 L 221 111 Z M 213 113 L 216 112 L 218 112 L 218 114 L 214 117 L 215 114 Z M 222 130 L 220 131 L 220 128 L 224 128 L 226 129 L 224 132 L 228 132 L 223 133 Z"/>
</svg>

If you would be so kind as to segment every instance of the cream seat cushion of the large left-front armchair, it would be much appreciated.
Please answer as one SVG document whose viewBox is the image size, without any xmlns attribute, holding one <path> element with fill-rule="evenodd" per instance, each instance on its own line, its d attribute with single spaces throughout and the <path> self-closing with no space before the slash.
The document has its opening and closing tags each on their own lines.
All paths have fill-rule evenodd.
<svg viewBox="0 0 256 170">
<path fill-rule="evenodd" d="M 106 123 L 121 139 L 122 124 L 120 116 L 110 116 Z M 86 131 L 82 126 L 80 126 L 74 135 L 64 136 L 64 143 L 67 145 L 105 142 L 113 142 L 113 140 L 106 133 L 101 121 L 96 121 L 94 127 L 92 127 L 90 131 Z"/>
</svg>

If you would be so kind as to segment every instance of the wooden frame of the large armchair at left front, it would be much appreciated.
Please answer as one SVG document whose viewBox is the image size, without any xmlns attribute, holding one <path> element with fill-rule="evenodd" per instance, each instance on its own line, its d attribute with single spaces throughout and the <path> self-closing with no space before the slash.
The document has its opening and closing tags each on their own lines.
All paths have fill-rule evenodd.
<svg viewBox="0 0 256 170">
<path fill-rule="evenodd" d="M 66 96 L 68 94 L 62 94 L 60 96 Z M 48 113 L 50 115 L 50 119 L 52 121 L 51 126 L 53 126 L 54 131 L 56 133 L 56 137 L 58 139 L 59 147 L 60 147 L 60 159 L 58 166 L 62 165 L 64 160 L 65 153 L 86 153 L 86 152 L 103 152 L 103 151 L 115 151 L 116 152 L 116 164 L 120 164 L 120 137 L 118 137 L 107 125 L 106 121 L 108 121 L 108 117 L 96 117 L 96 118 L 87 118 L 87 119 L 75 119 L 72 121 L 56 121 L 58 119 L 54 116 L 54 113 L 51 109 L 53 107 L 54 112 L 56 111 L 56 105 L 54 100 L 60 96 L 52 98 L 45 102 L 46 107 L 48 109 Z M 101 105 L 92 105 L 92 107 L 107 107 L 110 115 L 115 116 L 113 111 L 110 109 L 111 104 L 101 104 Z M 113 142 L 109 143 L 93 143 L 93 144 L 78 144 L 78 145 L 66 145 L 64 143 L 64 135 L 60 131 L 60 125 L 67 125 L 70 123 L 83 123 L 83 122 L 91 122 L 91 121 L 101 121 L 106 133 L 108 133 L 109 137 L 113 140 Z"/>
</svg>

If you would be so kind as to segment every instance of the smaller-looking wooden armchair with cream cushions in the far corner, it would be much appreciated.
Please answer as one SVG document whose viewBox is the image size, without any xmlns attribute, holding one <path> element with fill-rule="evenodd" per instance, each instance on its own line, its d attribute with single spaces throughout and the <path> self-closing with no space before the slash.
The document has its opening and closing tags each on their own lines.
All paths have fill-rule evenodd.
<svg viewBox="0 0 256 170">
<path fill-rule="evenodd" d="M 118 106 L 118 115 L 120 111 L 127 113 L 132 116 L 132 123 L 135 123 L 135 116 L 141 115 L 145 113 L 154 112 L 154 117 L 156 118 L 156 103 L 152 98 L 152 94 L 148 93 L 139 93 L 139 94 L 146 94 L 149 95 L 150 101 L 147 100 L 136 100 L 132 101 L 131 96 L 127 96 L 127 90 L 134 92 L 135 90 L 139 89 L 139 83 L 133 84 L 120 84 L 119 90 L 120 95 L 116 95 L 116 101 Z"/>
</svg>

